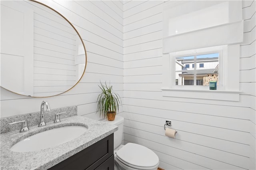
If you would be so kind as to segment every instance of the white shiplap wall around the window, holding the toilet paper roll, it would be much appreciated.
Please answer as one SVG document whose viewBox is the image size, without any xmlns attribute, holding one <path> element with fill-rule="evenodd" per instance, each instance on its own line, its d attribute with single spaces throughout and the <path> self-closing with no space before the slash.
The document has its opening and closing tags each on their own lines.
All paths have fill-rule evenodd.
<svg viewBox="0 0 256 170">
<path fill-rule="evenodd" d="M 166 170 L 255 169 L 256 2 L 243 2 L 239 102 L 162 96 L 165 3 L 124 4 L 124 141 L 151 148 Z M 166 120 L 176 139 L 164 136 Z"/>
</svg>

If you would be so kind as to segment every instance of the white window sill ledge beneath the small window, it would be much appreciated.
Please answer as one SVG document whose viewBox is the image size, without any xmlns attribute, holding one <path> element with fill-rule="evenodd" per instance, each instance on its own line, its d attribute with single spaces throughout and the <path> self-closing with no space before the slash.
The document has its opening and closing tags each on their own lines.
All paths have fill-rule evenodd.
<svg viewBox="0 0 256 170">
<path fill-rule="evenodd" d="M 165 97 L 182 97 L 182 98 L 222 100 L 222 101 L 239 101 L 240 93 L 241 91 L 162 88 L 162 94 Z"/>
</svg>

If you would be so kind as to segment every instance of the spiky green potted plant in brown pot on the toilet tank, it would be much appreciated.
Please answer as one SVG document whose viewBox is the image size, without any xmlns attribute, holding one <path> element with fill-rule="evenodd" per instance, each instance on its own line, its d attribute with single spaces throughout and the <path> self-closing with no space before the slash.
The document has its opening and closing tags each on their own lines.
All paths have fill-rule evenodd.
<svg viewBox="0 0 256 170">
<path fill-rule="evenodd" d="M 100 93 L 97 98 L 97 112 L 100 112 L 100 116 L 102 115 L 102 117 L 104 118 L 107 117 L 108 121 L 114 121 L 116 117 L 116 110 L 119 110 L 121 99 L 119 101 L 118 97 L 120 98 L 120 96 L 112 92 L 112 85 L 108 86 L 106 82 L 105 85 L 102 85 L 102 83 L 100 82 L 100 85 L 101 86 L 99 87 L 102 93 Z"/>
</svg>

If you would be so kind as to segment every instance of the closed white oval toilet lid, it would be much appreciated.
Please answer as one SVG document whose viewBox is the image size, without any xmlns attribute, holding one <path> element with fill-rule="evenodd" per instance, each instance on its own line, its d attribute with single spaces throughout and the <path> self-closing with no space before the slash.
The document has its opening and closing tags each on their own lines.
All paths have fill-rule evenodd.
<svg viewBox="0 0 256 170">
<path fill-rule="evenodd" d="M 158 156 L 149 148 L 128 143 L 116 152 L 116 158 L 127 166 L 144 169 L 158 165 Z M 144 168 L 143 168 L 144 167 Z"/>
</svg>

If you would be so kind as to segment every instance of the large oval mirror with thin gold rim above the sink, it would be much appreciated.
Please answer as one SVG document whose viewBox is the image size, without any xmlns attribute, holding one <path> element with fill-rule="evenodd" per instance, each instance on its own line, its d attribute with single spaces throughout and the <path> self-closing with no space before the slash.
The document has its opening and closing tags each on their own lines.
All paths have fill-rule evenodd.
<svg viewBox="0 0 256 170">
<path fill-rule="evenodd" d="M 1 3 L 1 87 L 32 97 L 72 89 L 86 68 L 86 49 L 74 26 L 35 1 Z"/>
</svg>

